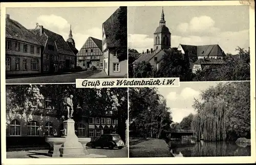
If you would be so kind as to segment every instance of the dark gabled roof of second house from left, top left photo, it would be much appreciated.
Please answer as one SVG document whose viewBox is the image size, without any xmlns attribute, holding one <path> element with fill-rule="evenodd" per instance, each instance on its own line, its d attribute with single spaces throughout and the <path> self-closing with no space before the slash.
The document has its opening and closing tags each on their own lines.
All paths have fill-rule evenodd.
<svg viewBox="0 0 256 165">
<path fill-rule="evenodd" d="M 40 28 L 41 28 L 41 26 L 40 26 Z M 59 34 L 54 33 L 45 28 L 42 28 L 42 31 L 44 33 L 42 35 L 40 35 L 40 29 L 33 29 L 30 31 L 33 32 L 34 34 L 36 34 L 38 40 L 40 40 L 41 43 L 44 43 L 44 45 L 45 45 L 47 37 L 50 37 L 51 39 L 55 40 L 58 53 L 67 54 L 69 56 L 75 56 L 74 52 L 69 47 L 68 43 Z"/>
</svg>

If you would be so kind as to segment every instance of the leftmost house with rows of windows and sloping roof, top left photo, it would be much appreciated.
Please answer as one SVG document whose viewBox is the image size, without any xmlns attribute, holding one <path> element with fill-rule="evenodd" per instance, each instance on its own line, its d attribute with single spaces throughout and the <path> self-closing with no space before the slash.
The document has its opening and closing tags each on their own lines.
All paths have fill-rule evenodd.
<svg viewBox="0 0 256 165">
<path fill-rule="evenodd" d="M 6 14 L 6 75 L 41 72 L 41 43 Z"/>
</svg>

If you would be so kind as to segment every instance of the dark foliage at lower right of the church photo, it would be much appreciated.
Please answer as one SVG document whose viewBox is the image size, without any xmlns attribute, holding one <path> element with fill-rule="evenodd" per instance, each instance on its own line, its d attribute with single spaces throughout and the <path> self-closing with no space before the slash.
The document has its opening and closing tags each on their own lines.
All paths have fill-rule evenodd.
<svg viewBox="0 0 256 165">
<path fill-rule="evenodd" d="M 193 81 L 250 80 L 250 50 L 238 47 L 237 55 L 227 54 L 224 64 L 195 73 Z"/>
</svg>

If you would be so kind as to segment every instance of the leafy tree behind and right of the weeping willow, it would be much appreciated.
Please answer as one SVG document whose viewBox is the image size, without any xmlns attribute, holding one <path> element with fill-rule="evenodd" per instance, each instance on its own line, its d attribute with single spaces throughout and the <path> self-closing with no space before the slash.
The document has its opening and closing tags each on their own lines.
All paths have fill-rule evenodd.
<svg viewBox="0 0 256 165">
<path fill-rule="evenodd" d="M 250 138 L 250 82 L 220 83 L 201 92 L 202 101 L 195 100 L 193 107 L 200 114 L 210 100 L 224 100 L 226 104 L 225 129 L 227 140 Z"/>
</svg>

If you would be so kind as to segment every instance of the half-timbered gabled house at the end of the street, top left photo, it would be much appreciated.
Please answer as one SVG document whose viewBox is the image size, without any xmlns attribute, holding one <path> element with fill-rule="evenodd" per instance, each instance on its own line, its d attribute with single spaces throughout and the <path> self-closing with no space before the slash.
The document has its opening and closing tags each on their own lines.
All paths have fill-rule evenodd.
<svg viewBox="0 0 256 165">
<path fill-rule="evenodd" d="M 83 69 L 95 66 L 103 68 L 102 40 L 89 37 L 76 55 L 77 66 Z"/>
</svg>

